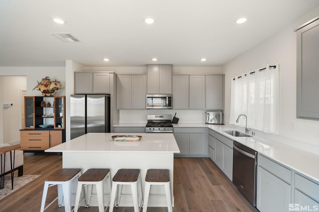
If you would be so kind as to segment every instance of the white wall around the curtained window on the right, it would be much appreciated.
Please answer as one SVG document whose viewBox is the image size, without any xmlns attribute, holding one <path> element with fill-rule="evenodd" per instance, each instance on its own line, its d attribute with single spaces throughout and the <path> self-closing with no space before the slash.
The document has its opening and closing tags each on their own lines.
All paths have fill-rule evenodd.
<svg viewBox="0 0 319 212">
<path fill-rule="evenodd" d="M 264 68 L 276 62 L 280 67 L 280 136 L 319 146 L 319 121 L 296 118 L 296 32 L 303 23 L 317 17 L 319 7 L 295 20 L 279 33 L 256 45 L 222 67 L 225 73 L 224 120 L 229 122 L 231 77 Z M 265 26 L 267 27 L 267 26 Z M 295 123 L 296 130 L 290 130 Z"/>
</svg>

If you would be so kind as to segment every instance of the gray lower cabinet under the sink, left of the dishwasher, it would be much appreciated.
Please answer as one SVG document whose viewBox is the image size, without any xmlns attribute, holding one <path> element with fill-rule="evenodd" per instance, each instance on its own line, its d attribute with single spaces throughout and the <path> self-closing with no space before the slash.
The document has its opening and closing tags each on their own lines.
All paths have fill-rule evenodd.
<svg viewBox="0 0 319 212">
<path fill-rule="evenodd" d="M 232 181 L 233 179 L 233 141 L 215 133 L 215 164 Z"/>
</svg>

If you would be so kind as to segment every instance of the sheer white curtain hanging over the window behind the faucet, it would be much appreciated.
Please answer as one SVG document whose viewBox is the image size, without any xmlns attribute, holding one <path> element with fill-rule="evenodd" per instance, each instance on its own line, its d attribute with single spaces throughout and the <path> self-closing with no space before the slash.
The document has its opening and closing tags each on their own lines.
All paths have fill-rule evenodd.
<svg viewBox="0 0 319 212">
<path fill-rule="evenodd" d="M 265 133 L 279 134 L 279 65 L 267 65 L 235 76 L 231 81 L 230 124 L 245 126 L 245 118 L 236 123 L 240 114 L 247 115 L 247 127 Z"/>
</svg>

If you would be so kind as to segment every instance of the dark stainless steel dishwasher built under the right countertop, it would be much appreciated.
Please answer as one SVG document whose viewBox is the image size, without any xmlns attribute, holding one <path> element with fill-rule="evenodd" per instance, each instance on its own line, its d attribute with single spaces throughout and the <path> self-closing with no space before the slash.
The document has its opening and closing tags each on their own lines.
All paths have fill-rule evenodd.
<svg viewBox="0 0 319 212">
<path fill-rule="evenodd" d="M 237 141 L 233 147 L 233 184 L 256 206 L 257 151 Z"/>
</svg>

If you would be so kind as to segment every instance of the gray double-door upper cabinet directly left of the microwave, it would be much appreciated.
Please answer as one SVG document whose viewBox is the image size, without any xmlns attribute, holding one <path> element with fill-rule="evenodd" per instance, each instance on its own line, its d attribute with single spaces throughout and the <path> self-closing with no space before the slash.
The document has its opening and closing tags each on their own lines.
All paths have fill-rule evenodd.
<svg viewBox="0 0 319 212">
<path fill-rule="evenodd" d="M 146 75 L 118 75 L 117 109 L 146 109 Z"/>
</svg>

